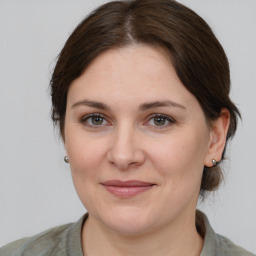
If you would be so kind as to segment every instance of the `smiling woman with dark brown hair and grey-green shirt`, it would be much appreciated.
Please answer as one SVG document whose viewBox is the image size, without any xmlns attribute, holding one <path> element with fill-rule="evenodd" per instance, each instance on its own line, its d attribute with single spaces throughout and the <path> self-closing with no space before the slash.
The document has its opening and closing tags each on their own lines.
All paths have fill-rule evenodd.
<svg viewBox="0 0 256 256">
<path fill-rule="evenodd" d="M 253 255 L 196 211 L 239 116 L 226 55 L 197 14 L 170 0 L 101 6 L 68 39 L 51 89 L 88 214 L 0 255 Z"/>
</svg>

